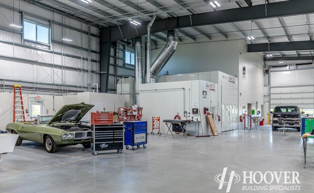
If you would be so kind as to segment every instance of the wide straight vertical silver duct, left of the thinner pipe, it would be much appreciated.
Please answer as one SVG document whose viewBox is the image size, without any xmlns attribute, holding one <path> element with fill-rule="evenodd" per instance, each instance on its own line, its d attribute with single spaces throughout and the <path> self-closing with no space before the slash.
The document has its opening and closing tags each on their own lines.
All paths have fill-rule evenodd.
<svg viewBox="0 0 314 193">
<path fill-rule="evenodd" d="M 145 61 L 145 37 L 139 36 L 135 37 L 135 103 L 137 106 L 140 106 L 140 85 L 142 83 L 142 73 L 143 73 L 143 62 Z"/>
</svg>

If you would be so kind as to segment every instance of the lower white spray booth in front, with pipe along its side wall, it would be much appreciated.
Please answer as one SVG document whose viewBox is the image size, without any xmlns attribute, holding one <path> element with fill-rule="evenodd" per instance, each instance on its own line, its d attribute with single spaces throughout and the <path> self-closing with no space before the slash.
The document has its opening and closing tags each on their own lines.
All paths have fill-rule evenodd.
<svg viewBox="0 0 314 193">
<path fill-rule="evenodd" d="M 202 119 L 203 132 L 210 134 L 203 108 L 216 112 L 217 84 L 204 80 L 188 80 L 142 84 L 140 90 L 140 106 L 143 107 L 143 120 L 152 125 L 152 117 L 160 116 L 160 121 L 173 119 L 177 114 L 181 119 Z M 194 111 L 193 111 L 194 110 Z M 195 113 L 195 114 L 193 114 Z M 215 116 L 217 113 L 214 113 Z M 215 122 L 218 124 L 218 120 Z M 195 130 L 195 124 L 187 125 L 187 130 Z M 148 127 L 148 131 L 150 126 Z M 160 123 L 160 132 L 166 133 L 168 128 Z M 194 132 L 188 132 L 194 135 Z M 201 125 L 199 124 L 199 134 Z"/>
</svg>

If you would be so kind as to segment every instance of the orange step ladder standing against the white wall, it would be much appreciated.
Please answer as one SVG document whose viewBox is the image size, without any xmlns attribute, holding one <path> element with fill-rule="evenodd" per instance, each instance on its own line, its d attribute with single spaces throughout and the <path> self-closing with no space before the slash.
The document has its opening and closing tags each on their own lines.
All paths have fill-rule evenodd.
<svg viewBox="0 0 314 193">
<path fill-rule="evenodd" d="M 16 88 L 19 89 L 16 89 Z M 16 97 L 19 97 L 18 99 Z M 14 85 L 13 99 L 13 122 L 25 121 L 22 88 L 21 85 Z"/>
</svg>

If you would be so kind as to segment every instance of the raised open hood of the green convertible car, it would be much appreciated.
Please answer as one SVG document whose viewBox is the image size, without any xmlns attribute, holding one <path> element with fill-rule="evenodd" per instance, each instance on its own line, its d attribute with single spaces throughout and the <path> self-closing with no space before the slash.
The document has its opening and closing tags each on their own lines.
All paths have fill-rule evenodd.
<svg viewBox="0 0 314 193">
<path fill-rule="evenodd" d="M 78 121 L 80 121 L 92 107 L 94 107 L 94 105 L 86 104 L 84 102 L 64 105 L 47 124 L 64 122 L 78 123 Z"/>
</svg>

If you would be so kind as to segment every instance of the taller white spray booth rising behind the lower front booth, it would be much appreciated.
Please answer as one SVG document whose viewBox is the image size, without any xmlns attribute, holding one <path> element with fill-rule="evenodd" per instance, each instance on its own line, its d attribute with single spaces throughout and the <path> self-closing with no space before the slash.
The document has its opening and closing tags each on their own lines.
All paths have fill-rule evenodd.
<svg viewBox="0 0 314 193">
<path fill-rule="evenodd" d="M 220 71 L 175 74 L 158 76 L 157 82 L 172 82 L 185 80 L 207 80 L 217 83 L 218 112 L 220 121 L 218 132 L 224 132 L 238 128 L 238 78 Z M 218 116 L 214 117 L 216 121 Z"/>
</svg>

